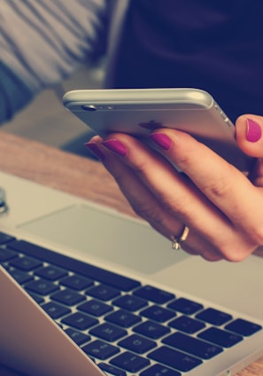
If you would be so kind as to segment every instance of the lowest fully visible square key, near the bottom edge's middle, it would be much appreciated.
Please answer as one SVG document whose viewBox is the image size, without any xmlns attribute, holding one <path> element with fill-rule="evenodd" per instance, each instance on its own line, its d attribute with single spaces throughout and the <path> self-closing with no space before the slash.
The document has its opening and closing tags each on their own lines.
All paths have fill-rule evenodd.
<svg viewBox="0 0 263 376">
<path fill-rule="evenodd" d="M 142 356 L 137 356 L 128 351 L 114 357 L 110 363 L 127 372 L 138 372 L 150 364 L 148 359 L 145 359 Z"/>
</svg>

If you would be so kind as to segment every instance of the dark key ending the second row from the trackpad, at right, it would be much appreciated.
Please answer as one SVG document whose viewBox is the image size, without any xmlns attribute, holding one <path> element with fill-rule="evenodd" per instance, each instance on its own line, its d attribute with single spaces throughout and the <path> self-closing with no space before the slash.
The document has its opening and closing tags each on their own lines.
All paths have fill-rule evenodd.
<svg viewBox="0 0 263 376">
<path fill-rule="evenodd" d="M 223 348 L 231 348 L 232 346 L 236 345 L 237 342 L 243 340 L 240 335 L 226 332 L 215 327 L 206 329 L 205 332 L 199 333 L 197 337 L 202 338 L 205 341 L 215 343 Z"/>
</svg>

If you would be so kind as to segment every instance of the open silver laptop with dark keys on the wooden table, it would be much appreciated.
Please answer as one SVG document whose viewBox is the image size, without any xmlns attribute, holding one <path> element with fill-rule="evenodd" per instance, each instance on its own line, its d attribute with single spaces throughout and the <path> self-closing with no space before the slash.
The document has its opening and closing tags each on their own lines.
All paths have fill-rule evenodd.
<svg viewBox="0 0 263 376">
<path fill-rule="evenodd" d="M 263 355 L 263 258 L 205 262 L 113 209 L 2 172 L 0 182 L 1 364 L 34 376 L 229 376 Z"/>
</svg>

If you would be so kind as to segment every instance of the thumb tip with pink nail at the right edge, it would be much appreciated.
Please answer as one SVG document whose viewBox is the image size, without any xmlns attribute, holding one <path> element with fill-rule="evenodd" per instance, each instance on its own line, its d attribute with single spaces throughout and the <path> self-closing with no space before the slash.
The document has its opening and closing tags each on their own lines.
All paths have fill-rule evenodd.
<svg viewBox="0 0 263 376">
<path fill-rule="evenodd" d="M 240 149 L 254 158 L 263 158 L 263 117 L 245 114 L 236 120 L 236 141 Z"/>
</svg>

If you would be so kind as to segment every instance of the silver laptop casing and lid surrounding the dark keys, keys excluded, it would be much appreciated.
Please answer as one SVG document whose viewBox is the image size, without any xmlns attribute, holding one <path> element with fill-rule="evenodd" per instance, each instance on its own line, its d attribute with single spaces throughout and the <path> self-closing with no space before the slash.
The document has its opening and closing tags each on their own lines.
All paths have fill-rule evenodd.
<svg viewBox="0 0 263 376">
<path fill-rule="evenodd" d="M 263 325 L 263 258 L 205 262 L 112 209 L 4 173 L 0 182 L 9 206 L 0 231 Z M 0 363 L 38 376 L 104 374 L 3 268 L 0 302 Z M 262 330 L 187 375 L 234 374 L 261 355 Z"/>
</svg>

